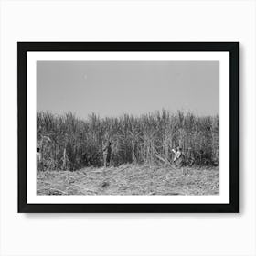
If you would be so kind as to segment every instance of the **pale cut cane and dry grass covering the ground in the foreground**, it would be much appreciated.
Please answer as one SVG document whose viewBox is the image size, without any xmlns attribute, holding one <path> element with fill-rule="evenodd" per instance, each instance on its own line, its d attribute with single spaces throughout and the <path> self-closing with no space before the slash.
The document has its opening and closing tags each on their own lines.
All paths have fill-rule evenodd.
<svg viewBox="0 0 256 256">
<path fill-rule="evenodd" d="M 37 172 L 37 195 L 218 195 L 219 167 L 88 167 Z"/>
</svg>

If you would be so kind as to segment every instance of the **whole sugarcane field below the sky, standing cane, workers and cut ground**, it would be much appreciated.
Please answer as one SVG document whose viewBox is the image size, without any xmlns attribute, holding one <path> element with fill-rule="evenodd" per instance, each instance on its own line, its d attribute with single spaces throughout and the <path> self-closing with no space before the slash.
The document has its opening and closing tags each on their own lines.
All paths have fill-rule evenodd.
<svg viewBox="0 0 256 256">
<path fill-rule="evenodd" d="M 37 195 L 218 195 L 219 116 L 37 112 Z"/>
</svg>

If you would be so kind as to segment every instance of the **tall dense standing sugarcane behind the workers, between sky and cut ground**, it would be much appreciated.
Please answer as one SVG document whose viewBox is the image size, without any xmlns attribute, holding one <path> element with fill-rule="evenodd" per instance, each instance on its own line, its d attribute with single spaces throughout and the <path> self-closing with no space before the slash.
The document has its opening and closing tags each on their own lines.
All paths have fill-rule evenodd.
<svg viewBox="0 0 256 256">
<path fill-rule="evenodd" d="M 42 169 L 77 170 L 103 165 L 102 146 L 112 142 L 112 165 L 172 164 L 182 147 L 184 165 L 219 165 L 219 115 L 184 112 L 123 114 L 80 120 L 72 113 L 37 112 L 37 147 Z"/>
</svg>

